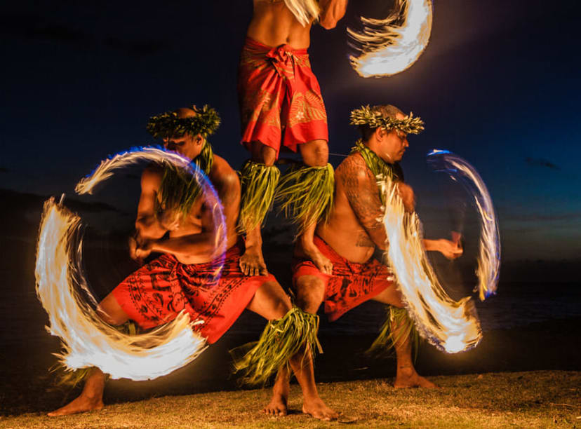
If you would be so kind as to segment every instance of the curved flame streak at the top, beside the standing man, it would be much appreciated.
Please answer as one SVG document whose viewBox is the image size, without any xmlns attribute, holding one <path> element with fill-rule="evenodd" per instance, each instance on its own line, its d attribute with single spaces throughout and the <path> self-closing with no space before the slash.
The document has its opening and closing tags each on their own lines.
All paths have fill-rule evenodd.
<svg viewBox="0 0 581 429">
<path fill-rule="evenodd" d="M 361 17 L 363 32 L 347 28 L 361 51 L 349 60 L 359 76 L 392 76 L 410 67 L 425 50 L 432 32 L 431 0 L 397 0 L 383 20 Z"/>
</svg>

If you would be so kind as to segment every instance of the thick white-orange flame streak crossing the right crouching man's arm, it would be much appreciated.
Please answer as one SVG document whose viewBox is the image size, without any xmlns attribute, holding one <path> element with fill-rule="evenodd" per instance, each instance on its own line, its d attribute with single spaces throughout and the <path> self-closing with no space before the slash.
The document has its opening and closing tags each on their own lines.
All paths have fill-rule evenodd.
<svg viewBox="0 0 581 429">
<path fill-rule="evenodd" d="M 406 212 L 389 177 L 380 180 L 385 195 L 383 223 L 387 259 L 420 335 L 447 353 L 476 346 L 482 338 L 474 303 L 453 301 L 441 287 L 422 243 L 422 226 L 415 212 Z"/>
</svg>

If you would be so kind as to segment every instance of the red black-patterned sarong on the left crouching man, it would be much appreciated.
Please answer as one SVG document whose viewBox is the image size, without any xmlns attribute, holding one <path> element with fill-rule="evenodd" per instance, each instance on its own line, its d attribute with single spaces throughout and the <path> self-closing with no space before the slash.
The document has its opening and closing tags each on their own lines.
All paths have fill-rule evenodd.
<svg viewBox="0 0 581 429">
<path fill-rule="evenodd" d="M 231 247 L 225 255 L 218 282 L 217 268 L 207 264 L 182 264 L 171 254 L 163 254 L 129 275 L 113 290 L 123 311 L 140 327 L 149 329 L 167 323 L 185 309 L 191 320 L 201 319 L 194 329 L 215 343 L 239 318 L 265 282 L 273 275 L 246 276 L 238 262 L 243 243 Z"/>
</svg>

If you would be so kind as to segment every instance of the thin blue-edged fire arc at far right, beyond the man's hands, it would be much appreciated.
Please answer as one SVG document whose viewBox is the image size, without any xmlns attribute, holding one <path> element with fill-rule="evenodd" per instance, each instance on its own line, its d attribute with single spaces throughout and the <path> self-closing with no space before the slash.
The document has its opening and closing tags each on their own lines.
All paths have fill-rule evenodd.
<svg viewBox="0 0 581 429">
<path fill-rule="evenodd" d="M 481 226 L 476 290 L 484 301 L 496 293 L 500 275 L 500 234 L 490 193 L 476 169 L 460 156 L 434 149 L 428 154 L 428 162 L 434 170 L 446 172 L 451 179 L 460 182 L 474 200 Z"/>
</svg>

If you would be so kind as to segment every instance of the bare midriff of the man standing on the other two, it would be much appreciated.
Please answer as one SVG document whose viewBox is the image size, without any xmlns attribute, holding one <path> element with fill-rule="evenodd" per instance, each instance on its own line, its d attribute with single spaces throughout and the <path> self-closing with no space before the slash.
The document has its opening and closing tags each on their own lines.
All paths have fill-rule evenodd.
<svg viewBox="0 0 581 429">
<path fill-rule="evenodd" d="M 305 49 L 311 43 L 311 25 L 303 27 L 283 0 L 253 0 L 254 14 L 246 35 L 273 48 L 289 45 Z"/>
</svg>

